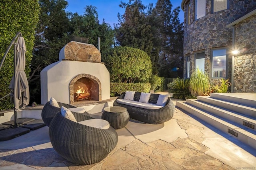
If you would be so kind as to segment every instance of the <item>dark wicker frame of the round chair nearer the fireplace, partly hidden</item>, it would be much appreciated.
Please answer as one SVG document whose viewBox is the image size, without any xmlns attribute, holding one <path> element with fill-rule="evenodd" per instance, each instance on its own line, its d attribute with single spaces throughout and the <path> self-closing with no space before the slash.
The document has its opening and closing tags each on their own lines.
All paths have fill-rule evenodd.
<svg viewBox="0 0 256 170">
<path fill-rule="evenodd" d="M 44 123 L 48 127 L 49 127 L 53 117 L 58 113 L 58 111 L 60 111 L 62 106 L 66 107 L 66 108 L 74 108 L 75 107 L 75 106 L 72 106 L 72 105 L 69 105 L 69 104 L 64 104 L 64 103 L 61 103 L 61 102 L 58 102 L 58 104 L 59 104 L 60 107 L 52 106 L 52 105 L 50 105 L 50 102 L 47 102 L 44 105 L 44 108 L 42 109 L 41 116 L 42 116 L 42 119 L 43 119 Z M 72 112 L 72 113 L 74 113 L 74 112 Z M 90 116 L 90 114 L 87 113 L 86 111 L 84 113 L 80 113 L 80 114 Z"/>
</svg>

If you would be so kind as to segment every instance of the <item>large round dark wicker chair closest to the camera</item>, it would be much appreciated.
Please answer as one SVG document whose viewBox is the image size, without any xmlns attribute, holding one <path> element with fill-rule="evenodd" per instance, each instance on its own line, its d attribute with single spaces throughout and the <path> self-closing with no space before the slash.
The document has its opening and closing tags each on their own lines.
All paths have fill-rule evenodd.
<svg viewBox="0 0 256 170">
<path fill-rule="evenodd" d="M 73 113 L 76 120 L 93 119 L 87 115 Z M 111 126 L 99 129 L 76 123 L 58 112 L 49 127 L 53 148 L 66 160 L 74 164 L 88 165 L 100 162 L 116 147 L 118 135 Z"/>
</svg>

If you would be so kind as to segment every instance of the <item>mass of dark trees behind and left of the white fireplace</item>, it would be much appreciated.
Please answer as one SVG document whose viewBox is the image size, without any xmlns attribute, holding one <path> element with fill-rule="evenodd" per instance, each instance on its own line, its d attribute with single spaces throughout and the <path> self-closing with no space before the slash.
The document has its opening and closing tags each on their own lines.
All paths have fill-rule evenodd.
<svg viewBox="0 0 256 170">
<path fill-rule="evenodd" d="M 87 37 L 88 43 L 98 47 L 102 61 L 114 45 L 114 31 L 104 20 L 99 23 L 97 8 L 86 6 L 84 14 L 66 12 L 66 0 L 39 0 L 40 21 L 36 27 L 35 46 L 30 72 L 30 101 L 40 102 L 40 72 L 59 61 L 60 50 L 76 35 Z"/>
</svg>

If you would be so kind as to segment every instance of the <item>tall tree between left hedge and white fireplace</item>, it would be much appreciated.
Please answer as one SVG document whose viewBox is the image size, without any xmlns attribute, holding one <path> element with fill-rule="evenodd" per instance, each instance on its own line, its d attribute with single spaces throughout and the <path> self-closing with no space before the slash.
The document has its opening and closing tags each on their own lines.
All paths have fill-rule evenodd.
<svg viewBox="0 0 256 170">
<path fill-rule="evenodd" d="M 39 0 L 40 17 L 36 27 L 35 45 L 31 62 L 30 104 L 40 104 L 40 72 L 43 68 L 59 61 L 59 52 L 70 42 L 71 24 L 65 8 L 66 0 Z"/>
</svg>

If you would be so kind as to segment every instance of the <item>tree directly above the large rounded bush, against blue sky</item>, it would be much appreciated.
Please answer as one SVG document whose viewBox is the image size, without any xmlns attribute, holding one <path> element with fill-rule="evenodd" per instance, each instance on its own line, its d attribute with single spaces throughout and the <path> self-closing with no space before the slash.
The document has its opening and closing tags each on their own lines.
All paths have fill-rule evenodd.
<svg viewBox="0 0 256 170">
<path fill-rule="evenodd" d="M 145 51 L 150 56 L 155 72 L 154 34 L 146 13 L 150 6 L 144 6 L 141 0 L 129 0 L 128 3 L 121 1 L 119 6 L 125 8 L 122 16 L 118 14 L 119 23 L 115 25 L 119 45 Z"/>
</svg>

